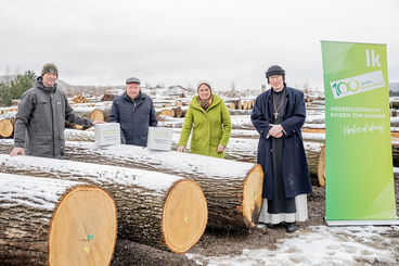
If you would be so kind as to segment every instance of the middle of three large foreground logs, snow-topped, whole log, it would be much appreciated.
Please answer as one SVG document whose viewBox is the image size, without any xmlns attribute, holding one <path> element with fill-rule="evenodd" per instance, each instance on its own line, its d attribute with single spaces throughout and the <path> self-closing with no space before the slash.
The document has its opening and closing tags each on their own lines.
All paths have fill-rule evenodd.
<svg viewBox="0 0 399 266">
<path fill-rule="evenodd" d="M 0 155 L 0 172 L 101 186 L 115 200 L 118 236 L 186 252 L 204 233 L 207 204 L 193 180 L 156 172 L 34 156 Z"/>
</svg>

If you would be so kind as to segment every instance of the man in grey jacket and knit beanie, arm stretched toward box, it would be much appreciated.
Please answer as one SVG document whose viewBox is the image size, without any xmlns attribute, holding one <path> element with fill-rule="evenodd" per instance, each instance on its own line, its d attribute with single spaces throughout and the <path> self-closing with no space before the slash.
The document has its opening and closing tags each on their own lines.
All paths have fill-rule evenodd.
<svg viewBox="0 0 399 266">
<path fill-rule="evenodd" d="M 65 93 L 56 88 L 57 78 L 56 66 L 48 63 L 34 87 L 21 97 L 11 156 L 21 153 L 61 159 L 65 151 L 65 121 L 88 127 L 103 123 L 74 114 Z"/>
</svg>

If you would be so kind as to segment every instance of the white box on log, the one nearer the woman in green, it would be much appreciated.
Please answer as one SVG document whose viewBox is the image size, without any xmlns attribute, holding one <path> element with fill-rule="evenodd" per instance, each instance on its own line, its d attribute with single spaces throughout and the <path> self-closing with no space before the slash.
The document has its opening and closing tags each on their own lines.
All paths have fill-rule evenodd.
<svg viewBox="0 0 399 266">
<path fill-rule="evenodd" d="M 149 128 L 146 148 L 149 150 L 170 151 L 173 130 L 171 128 Z"/>
</svg>

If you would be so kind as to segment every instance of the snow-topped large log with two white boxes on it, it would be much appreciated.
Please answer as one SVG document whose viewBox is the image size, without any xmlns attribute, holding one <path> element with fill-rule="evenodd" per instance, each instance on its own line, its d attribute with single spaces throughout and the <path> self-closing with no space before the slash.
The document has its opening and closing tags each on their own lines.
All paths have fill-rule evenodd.
<svg viewBox="0 0 399 266">
<path fill-rule="evenodd" d="M 4 140 L 0 140 L 0 149 L 4 149 Z M 263 174 L 261 167 L 253 163 L 180 152 L 150 151 L 134 145 L 99 149 L 92 142 L 73 141 L 66 142 L 65 159 L 192 178 L 202 187 L 207 199 L 209 225 L 254 227 L 261 208 Z M 115 195 L 114 198 L 116 199 Z"/>
</svg>

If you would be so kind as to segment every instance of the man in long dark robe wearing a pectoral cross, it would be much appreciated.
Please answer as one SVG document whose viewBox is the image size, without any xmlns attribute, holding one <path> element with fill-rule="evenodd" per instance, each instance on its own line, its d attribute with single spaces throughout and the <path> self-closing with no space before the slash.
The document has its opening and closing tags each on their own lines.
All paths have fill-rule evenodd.
<svg viewBox="0 0 399 266">
<path fill-rule="evenodd" d="M 272 65 L 266 73 L 271 89 L 257 97 L 250 119 L 260 135 L 258 164 L 262 166 L 263 205 L 259 221 L 286 223 L 308 218 L 307 194 L 312 192 L 300 128 L 305 123 L 304 93 L 285 85 L 285 71 Z"/>
</svg>

